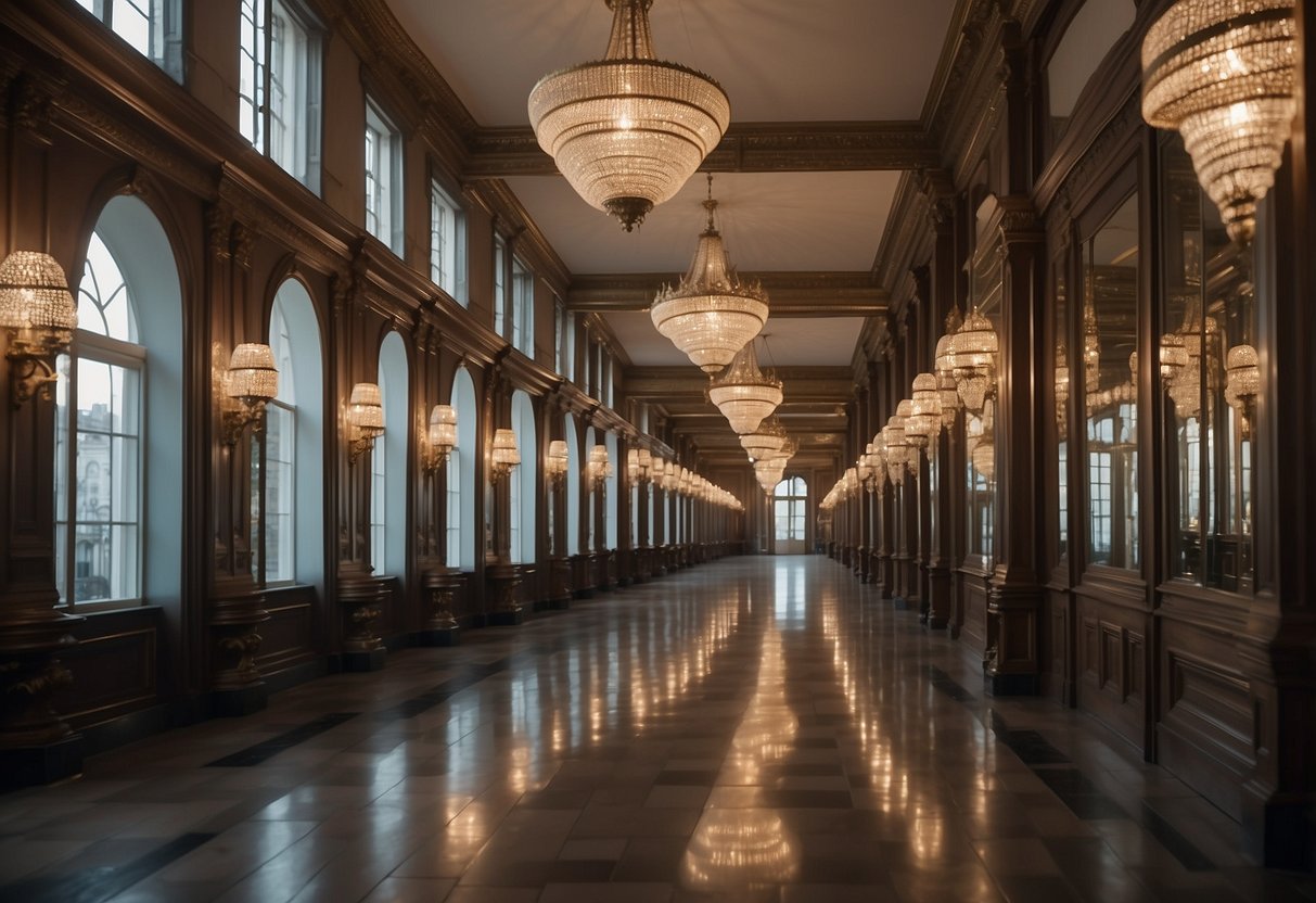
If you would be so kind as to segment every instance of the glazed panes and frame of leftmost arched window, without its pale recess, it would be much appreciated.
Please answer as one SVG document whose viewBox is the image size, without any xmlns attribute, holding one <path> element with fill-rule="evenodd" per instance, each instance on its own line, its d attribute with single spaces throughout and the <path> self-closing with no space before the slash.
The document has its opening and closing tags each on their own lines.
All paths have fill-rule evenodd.
<svg viewBox="0 0 1316 903">
<path fill-rule="evenodd" d="M 62 602 L 142 598 L 142 375 L 137 312 L 99 233 L 55 392 L 55 583 Z"/>
</svg>

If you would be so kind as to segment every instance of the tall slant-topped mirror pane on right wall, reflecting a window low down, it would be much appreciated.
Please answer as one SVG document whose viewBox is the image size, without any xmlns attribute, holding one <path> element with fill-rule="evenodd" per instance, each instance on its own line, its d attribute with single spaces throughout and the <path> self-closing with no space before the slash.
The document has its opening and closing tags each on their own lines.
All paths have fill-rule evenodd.
<svg viewBox="0 0 1316 903">
<path fill-rule="evenodd" d="M 1138 201 L 1083 244 L 1088 562 L 1138 567 Z"/>
</svg>

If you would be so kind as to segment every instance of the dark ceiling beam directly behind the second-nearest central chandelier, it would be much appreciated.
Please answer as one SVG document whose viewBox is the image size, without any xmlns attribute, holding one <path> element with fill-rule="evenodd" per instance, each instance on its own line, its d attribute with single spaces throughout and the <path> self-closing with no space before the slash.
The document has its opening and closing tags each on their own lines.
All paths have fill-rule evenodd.
<svg viewBox="0 0 1316 903">
<path fill-rule="evenodd" d="M 887 292 L 869 272 L 742 272 L 741 276 L 763 284 L 774 317 L 875 317 L 887 312 Z M 567 288 L 567 309 L 647 311 L 659 288 L 679 280 L 676 272 L 576 275 Z"/>
</svg>

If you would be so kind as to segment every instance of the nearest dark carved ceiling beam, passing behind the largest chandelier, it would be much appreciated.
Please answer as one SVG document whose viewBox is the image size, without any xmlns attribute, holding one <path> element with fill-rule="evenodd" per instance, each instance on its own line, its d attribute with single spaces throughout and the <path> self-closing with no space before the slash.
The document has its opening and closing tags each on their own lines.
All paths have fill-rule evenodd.
<svg viewBox="0 0 1316 903">
<path fill-rule="evenodd" d="M 529 126 L 474 129 L 466 141 L 470 179 L 555 175 Z M 700 167 L 709 172 L 838 172 L 941 166 L 919 122 L 733 122 Z"/>
</svg>

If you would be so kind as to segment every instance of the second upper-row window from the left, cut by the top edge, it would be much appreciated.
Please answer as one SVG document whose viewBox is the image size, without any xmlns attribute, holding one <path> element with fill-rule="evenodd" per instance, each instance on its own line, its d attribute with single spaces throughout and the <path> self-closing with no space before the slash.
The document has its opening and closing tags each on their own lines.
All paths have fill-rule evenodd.
<svg viewBox="0 0 1316 903">
<path fill-rule="evenodd" d="M 320 191 L 321 29 L 293 0 L 242 0 L 238 128 L 251 146 Z"/>
</svg>

